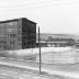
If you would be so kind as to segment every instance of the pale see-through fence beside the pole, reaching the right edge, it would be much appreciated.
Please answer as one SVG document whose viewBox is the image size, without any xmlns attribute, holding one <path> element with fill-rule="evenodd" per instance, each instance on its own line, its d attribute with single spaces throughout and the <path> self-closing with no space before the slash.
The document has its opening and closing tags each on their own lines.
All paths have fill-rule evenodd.
<svg viewBox="0 0 79 79">
<path fill-rule="evenodd" d="M 36 63 L 38 63 L 38 55 Z M 47 52 L 42 54 L 42 63 L 44 64 L 76 64 L 79 63 L 79 52 L 76 49 L 68 49 L 61 52 Z"/>
</svg>

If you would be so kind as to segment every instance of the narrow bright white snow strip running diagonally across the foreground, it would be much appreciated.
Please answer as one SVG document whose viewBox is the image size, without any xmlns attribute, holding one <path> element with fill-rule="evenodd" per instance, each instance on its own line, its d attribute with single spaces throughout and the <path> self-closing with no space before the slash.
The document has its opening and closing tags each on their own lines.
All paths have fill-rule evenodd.
<svg viewBox="0 0 79 79">
<path fill-rule="evenodd" d="M 31 70 L 37 70 L 38 71 L 38 68 L 36 68 L 36 67 L 22 66 L 22 65 L 16 65 L 16 64 L 11 64 L 11 63 L 1 63 L 1 61 L 0 61 L 0 64 L 1 65 L 13 66 L 13 67 L 26 68 L 26 69 L 31 69 Z M 48 72 L 49 75 L 59 75 L 59 76 L 64 76 L 64 77 L 79 79 L 79 74 L 78 72 L 50 70 L 50 69 L 45 69 L 45 68 L 42 68 L 42 71 Z"/>
</svg>

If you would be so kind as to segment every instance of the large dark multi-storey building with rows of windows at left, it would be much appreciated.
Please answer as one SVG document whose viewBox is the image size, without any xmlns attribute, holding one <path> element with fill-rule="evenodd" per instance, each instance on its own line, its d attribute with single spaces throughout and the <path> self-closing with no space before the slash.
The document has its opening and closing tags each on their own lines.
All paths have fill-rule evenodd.
<svg viewBox="0 0 79 79">
<path fill-rule="evenodd" d="M 25 18 L 0 22 L 0 50 L 35 47 L 36 23 Z"/>
</svg>

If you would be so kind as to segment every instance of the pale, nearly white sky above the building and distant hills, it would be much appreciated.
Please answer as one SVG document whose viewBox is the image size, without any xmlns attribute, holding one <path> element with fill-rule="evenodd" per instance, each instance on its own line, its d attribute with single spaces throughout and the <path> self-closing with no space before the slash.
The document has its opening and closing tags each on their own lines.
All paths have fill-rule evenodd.
<svg viewBox="0 0 79 79">
<path fill-rule="evenodd" d="M 36 22 L 41 33 L 79 34 L 79 0 L 0 0 L 0 21 L 18 18 Z"/>
</svg>

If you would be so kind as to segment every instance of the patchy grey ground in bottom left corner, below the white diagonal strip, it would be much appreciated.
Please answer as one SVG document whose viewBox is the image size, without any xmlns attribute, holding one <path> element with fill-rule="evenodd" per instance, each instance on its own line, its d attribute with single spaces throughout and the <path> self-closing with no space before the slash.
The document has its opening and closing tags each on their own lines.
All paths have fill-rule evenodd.
<svg viewBox="0 0 79 79">
<path fill-rule="evenodd" d="M 49 76 L 40 76 L 22 68 L 0 65 L 0 79 L 50 79 Z"/>
</svg>

